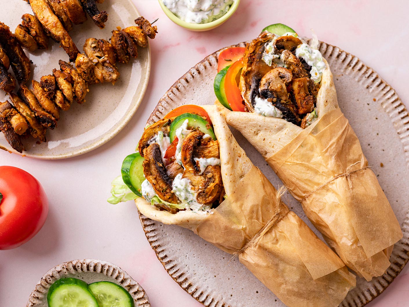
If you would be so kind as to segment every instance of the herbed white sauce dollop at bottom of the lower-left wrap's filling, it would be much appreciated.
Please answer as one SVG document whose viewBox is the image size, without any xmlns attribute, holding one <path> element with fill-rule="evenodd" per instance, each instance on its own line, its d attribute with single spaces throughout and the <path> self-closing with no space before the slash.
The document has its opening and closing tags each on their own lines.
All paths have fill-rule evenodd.
<svg viewBox="0 0 409 307">
<path fill-rule="evenodd" d="M 187 178 L 182 178 L 183 174 L 178 174 L 175 179 L 173 179 L 172 193 L 178 197 L 182 204 L 186 204 L 186 209 L 191 209 L 193 211 L 207 211 L 210 206 L 203 206 L 196 200 L 197 192 L 193 190 L 190 180 Z"/>
</svg>

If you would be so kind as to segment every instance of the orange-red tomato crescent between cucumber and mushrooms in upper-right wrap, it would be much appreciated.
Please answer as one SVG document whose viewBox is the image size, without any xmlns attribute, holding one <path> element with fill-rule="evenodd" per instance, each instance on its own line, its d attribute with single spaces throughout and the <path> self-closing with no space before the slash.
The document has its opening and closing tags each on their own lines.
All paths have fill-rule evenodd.
<svg viewBox="0 0 409 307">
<path fill-rule="evenodd" d="M 225 76 L 225 94 L 227 102 L 231 110 L 245 112 L 243 98 L 241 97 L 238 82 L 240 80 L 240 72 L 243 68 L 243 58 L 240 58 L 227 69 Z"/>
</svg>

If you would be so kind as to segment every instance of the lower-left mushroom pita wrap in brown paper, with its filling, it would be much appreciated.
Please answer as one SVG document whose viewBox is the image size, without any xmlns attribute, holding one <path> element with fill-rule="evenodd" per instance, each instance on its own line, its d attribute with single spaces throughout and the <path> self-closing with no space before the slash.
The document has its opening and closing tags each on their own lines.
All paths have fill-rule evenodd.
<svg viewBox="0 0 409 307">
<path fill-rule="evenodd" d="M 139 211 L 237 255 L 288 306 L 338 306 L 355 276 L 281 201 L 217 106 L 203 108 L 184 105 L 148 126 L 125 159 Z"/>
</svg>

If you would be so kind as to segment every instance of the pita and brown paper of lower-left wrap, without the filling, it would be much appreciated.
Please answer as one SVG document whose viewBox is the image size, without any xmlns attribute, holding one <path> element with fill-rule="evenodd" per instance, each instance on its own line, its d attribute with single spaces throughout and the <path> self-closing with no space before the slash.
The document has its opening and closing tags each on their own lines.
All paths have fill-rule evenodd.
<svg viewBox="0 0 409 307">
<path fill-rule="evenodd" d="M 135 200 L 146 217 L 191 229 L 218 248 L 238 255 L 261 282 L 288 306 L 338 306 L 355 276 L 281 201 L 231 134 L 216 106 L 204 106 L 220 148 L 226 198 L 209 212 L 160 210 Z"/>
</svg>

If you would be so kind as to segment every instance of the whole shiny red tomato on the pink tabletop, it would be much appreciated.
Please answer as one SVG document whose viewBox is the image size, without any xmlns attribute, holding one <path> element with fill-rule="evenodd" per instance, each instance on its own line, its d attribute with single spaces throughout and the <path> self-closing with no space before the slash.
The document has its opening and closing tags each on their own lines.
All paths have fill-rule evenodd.
<svg viewBox="0 0 409 307">
<path fill-rule="evenodd" d="M 47 195 L 36 178 L 13 166 L 0 166 L 0 193 L 0 249 L 13 249 L 43 227 Z"/>
</svg>

